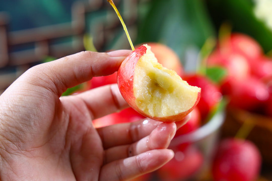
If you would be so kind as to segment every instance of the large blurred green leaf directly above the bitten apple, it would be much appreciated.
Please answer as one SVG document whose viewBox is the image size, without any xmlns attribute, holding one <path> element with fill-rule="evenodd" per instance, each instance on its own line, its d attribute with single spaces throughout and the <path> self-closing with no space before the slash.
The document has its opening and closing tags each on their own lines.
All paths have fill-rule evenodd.
<svg viewBox="0 0 272 181">
<path fill-rule="evenodd" d="M 200 49 L 215 32 L 201 0 L 153 0 L 139 25 L 140 42 L 161 42 L 183 58 L 189 47 Z"/>
</svg>

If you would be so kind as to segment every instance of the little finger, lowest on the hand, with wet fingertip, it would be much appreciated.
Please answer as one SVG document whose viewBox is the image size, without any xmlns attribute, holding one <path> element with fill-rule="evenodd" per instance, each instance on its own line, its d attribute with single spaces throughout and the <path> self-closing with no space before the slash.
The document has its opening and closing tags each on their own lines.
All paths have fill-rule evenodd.
<svg viewBox="0 0 272 181">
<path fill-rule="evenodd" d="M 100 180 L 129 180 L 160 168 L 173 156 L 172 150 L 157 149 L 116 160 L 102 167 Z"/>
</svg>

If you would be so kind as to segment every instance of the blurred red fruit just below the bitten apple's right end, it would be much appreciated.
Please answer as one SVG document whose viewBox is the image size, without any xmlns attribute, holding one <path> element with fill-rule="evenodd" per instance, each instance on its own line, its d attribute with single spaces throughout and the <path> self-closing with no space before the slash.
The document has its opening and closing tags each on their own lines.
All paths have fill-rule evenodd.
<svg viewBox="0 0 272 181">
<path fill-rule="evenodd" d="M 192 110 L 190 115 L 188 122 L 176 131 L 175 137 L 193 132 L 201 126 L 201 116 L 197 107 Z"/>
</svg>

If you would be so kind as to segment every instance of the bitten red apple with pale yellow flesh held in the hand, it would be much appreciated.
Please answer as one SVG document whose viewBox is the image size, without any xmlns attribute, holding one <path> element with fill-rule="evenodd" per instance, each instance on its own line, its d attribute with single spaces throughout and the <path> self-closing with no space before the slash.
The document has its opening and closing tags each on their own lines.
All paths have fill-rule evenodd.
<svg viewBox="0 0 272 181">
<path fill-rule="evenodd" d="M 125 101 L 142 115 L 164 122 L 182 121 L 197 105 L 201 89 L 158 63 L 148 45 L 132 51 L 117 72 Z"/>
</svg>

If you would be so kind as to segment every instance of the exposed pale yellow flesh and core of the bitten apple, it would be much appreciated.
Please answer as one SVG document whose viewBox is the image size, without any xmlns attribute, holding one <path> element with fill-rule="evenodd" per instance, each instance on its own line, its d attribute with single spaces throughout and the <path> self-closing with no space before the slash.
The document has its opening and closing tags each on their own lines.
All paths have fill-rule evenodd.
<svg viewBox="0 0 272 181">
<path fill-rule="evenodd" d="M 196 103 L 200 88 L 189 85 L 173 70 L 158 63 L 148 45 L 134 70 L 135 104 L 153 117 L 186 112 Z"/>
</svg>

